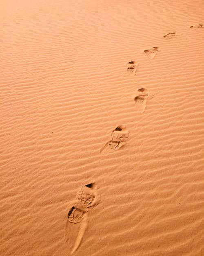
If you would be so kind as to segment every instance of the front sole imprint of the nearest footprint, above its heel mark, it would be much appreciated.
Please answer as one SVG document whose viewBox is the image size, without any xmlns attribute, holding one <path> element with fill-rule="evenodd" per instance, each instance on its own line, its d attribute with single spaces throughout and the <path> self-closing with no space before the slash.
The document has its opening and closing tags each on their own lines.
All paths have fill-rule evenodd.
<svg viewBox="0 0 204 256">
<path fill-rule="evenodd" d="M 99 203 L 98 186 L 95 183 L 90 183 L 81 188 L 77 193 L 77 200 L 81 202 L 86 208 L 93 207 Z"/>
</svg>

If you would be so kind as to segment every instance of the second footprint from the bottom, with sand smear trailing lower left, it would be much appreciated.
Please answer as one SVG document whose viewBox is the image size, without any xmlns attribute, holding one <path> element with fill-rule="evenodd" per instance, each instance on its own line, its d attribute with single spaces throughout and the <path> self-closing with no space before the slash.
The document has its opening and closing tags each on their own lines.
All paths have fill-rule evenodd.
<svg viewBox="0 0 204 256">
<path fill-rule="evenodd" d="M 110 140 L 101 148 L 100 153 L 109 153 L 118 150 L 124 145 L 126 138 L 129 136 L 129 131 L 123 125 L 116 127 L 112 133 Z"/>
</svg>

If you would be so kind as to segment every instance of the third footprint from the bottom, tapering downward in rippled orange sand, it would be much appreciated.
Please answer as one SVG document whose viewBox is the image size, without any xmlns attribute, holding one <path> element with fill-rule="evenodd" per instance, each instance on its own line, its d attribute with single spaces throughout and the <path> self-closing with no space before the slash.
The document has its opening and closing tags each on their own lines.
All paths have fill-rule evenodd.
<svg viewBox="0 0 204 256">
<path fill-rule="evenodd" d="M 138 89 L 135 95 L 133 95 L 136 108 L 140 113 L 143 113 L 145 111 L 148 96 L 149 91 L 145 88 Z"/>
</svg>

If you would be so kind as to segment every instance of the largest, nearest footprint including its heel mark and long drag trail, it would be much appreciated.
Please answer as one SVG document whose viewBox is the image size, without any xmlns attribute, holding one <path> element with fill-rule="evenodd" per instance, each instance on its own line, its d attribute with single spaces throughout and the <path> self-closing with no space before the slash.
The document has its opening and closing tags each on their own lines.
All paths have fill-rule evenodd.
<svg viewBox="0 0 204 256">
<path fill-rule="evenodd" d="M 98 185 L 96 183 L 90 183 L 78 191 L 75 201 L 69 206 L 68 219 L 66 225 L 66 242 L 69 240 L 69 246 L 73 244 L 71 254 L 75 252 L 86 230 L 88 224 L 88 207 L 93 207 L 100 202 L 98 196 Z M 79 223 L 80 222 L 80 223 Z M 74 225 L 79 223 L 79 225 Z"/>
</svg>

